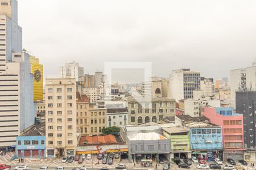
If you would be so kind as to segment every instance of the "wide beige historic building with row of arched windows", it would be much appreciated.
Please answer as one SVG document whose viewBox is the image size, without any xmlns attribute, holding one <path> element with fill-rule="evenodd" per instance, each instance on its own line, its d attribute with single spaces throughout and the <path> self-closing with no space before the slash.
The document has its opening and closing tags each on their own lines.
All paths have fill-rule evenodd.
<svg viewBox="0 0 256 170">
<path fill-rule="evenodd" d="M 138 103 L 134 97 L 129 96 L 127 106 L 129 125 L 160 123 L 163 118 L 175 115 L 175 99 L 166 97 L 152 97 L 151 103 Z"/>
</svg>

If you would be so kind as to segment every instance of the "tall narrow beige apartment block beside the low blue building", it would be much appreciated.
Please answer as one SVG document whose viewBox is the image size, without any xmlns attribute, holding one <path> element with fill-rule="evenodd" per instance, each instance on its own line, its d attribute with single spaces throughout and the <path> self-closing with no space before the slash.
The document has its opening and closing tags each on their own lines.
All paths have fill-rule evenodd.
<svg viewBox="0 0 256 170">
<path fill-rule="evenodd" d="M 46 155 L 75 155 L 76 79 L 46 79 Z"/>
</svg>

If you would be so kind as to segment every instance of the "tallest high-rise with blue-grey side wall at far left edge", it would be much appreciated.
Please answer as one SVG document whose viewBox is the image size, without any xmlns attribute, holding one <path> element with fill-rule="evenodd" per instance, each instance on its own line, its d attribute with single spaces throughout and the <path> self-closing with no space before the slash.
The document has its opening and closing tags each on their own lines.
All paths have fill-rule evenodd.
<svg viewBox="0 0 256 170">
<path fill-rule="evenodd" d="M 29 55 L 22 52 L 16 0 L 0 0 L 0 148 L 34 123 L 33 79 Z"/>
</svg>

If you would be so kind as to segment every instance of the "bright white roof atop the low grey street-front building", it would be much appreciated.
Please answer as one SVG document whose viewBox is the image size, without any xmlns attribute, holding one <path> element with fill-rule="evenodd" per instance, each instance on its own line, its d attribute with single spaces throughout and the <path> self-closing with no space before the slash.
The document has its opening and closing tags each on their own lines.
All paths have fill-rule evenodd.
<svg viewBox="0 0 256 170">
<path fill-rule="evenodd" d="M 134 135 L 128 136 L 130 141 L 154 141 L 154 140 L 164 140 L 167 139 L 163 135 L 160 135 L 155 132 L 150 133 L 137 133 Z"/>
</svg>

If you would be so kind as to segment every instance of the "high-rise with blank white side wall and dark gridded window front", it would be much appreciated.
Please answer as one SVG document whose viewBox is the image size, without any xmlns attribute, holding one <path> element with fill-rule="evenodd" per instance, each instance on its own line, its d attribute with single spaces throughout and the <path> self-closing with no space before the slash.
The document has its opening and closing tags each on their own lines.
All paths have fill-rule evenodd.
<svg viewBox="0 0 256 170">
<path fill-rule="evenodd" d="M 200 72 L 190 69 L 173 70 L 170 74 L 170 97 L 180 99 L 192 99 L 193 91 L 200 90 Z"/>
</svg>

